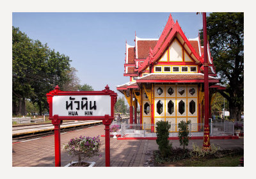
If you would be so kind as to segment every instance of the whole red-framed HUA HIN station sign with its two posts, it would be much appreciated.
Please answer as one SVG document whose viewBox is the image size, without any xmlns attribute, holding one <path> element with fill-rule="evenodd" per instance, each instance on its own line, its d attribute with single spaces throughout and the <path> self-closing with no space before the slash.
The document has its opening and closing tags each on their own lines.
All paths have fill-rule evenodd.
<svg viewBox="0 0 256 179">
<path fill-rule="evenodd" d="M 102 120 L 105 125 L 106 167 L 109 167 L 109 125 L 115 118 L 117 94 L 108 85 L 102 91 L 60 91 L 57 85 L 46 96 L 49 119 L 54 125 L 55 166 L 61 166 L 60 125 L 63 120 Z"/>
</svg>

